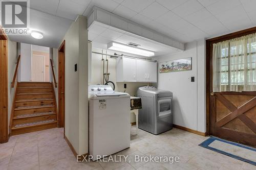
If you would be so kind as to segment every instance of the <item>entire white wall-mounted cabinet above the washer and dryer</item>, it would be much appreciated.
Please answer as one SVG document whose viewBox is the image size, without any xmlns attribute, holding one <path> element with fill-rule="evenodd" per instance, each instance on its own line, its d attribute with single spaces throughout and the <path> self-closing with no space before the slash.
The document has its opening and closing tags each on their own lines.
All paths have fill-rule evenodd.
<svg viewBox="0 0 256 170">
<path fill-rule="evenodd" d="M 157 82 L 157 63 L 122 57 L 116 60 L 117 82 Z"/>
</svg>

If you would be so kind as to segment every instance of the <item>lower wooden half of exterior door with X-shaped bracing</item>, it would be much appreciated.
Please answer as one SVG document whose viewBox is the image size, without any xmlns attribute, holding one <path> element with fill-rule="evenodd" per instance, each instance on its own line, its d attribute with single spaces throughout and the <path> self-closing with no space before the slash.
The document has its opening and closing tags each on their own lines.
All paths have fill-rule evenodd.
<svg viewBox="0 0 256 170">
<path fill-rule="evenodd" d="M 256 146 L 256 92 L 215 92 L 210 97 L 210 134 Z"/>
</svg>

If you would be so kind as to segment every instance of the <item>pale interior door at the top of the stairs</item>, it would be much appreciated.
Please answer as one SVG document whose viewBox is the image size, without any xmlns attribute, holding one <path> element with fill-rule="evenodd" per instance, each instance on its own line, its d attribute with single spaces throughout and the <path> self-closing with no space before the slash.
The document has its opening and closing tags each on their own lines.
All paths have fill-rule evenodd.
<svg viewBox="0 0 256 170">
<path fill-rule="evenodd" d="M 33 55 L 31 71 L 32 82 L 45 81 L 45 56 Z"/>
</svg>

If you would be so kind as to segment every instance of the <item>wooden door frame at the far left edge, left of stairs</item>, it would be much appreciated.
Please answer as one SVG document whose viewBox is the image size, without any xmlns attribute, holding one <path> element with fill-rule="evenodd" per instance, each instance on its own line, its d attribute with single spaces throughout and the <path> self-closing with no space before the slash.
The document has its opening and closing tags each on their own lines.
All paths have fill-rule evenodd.
<svg viewBox="0 0 256 170">
<path fill-rule="evenodd" d="M 0 26 L 2 30 L 2 27 Z M 0 143 L 8 142 L 8 37 L 0 34 Z M 3 52 L 3 53 L 2 53 Z"/>
</svg>

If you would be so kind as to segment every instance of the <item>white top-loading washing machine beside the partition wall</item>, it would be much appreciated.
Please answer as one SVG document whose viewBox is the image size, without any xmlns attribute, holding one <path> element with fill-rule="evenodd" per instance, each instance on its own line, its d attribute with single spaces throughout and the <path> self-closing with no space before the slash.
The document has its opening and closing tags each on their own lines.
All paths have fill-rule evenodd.
<svg viewBox="0 0 256 170">
<path fill-rule="evenodd" d="M 89 86 L 89 154 L 93 161 L 130 147 L 130 95 Z"/>
</svg>

